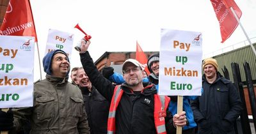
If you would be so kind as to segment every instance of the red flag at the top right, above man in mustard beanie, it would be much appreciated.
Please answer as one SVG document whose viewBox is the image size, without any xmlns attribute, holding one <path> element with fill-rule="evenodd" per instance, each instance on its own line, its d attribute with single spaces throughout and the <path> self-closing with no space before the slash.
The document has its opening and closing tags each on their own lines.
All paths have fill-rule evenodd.
<svg viewBox="0 0 256 134">
<path fill-rule="evenodd" d="M 238 22 L 230 10 L 230 7 L 234 9 L 239 19 L 242 16 L 242 11 L 234 0 L 211 0 L 211 3 L 220 24 L 221 43 L 223 43 L 231 36 L 238 26 Z"/>
</svg>

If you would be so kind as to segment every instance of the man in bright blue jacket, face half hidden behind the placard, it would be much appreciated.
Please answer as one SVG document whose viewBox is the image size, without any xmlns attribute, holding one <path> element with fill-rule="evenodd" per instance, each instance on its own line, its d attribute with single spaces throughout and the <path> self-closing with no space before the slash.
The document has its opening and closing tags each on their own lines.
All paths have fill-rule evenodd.
<svg viewBox="0 0 256 134">
<path fill-rule="evenodd" d="M 156 85 L 156 89 L 158 89 L 158 82 L 159 82 L 159 53 L 152 54 L 148 57 L 147 62 L 148 70 L 150 71 L 150 75 L 147 78 L 143 78 L 143 82 L 152 82 Z M 124 78 L 118 74 L 114 73 L 111 68 L 104 68 L 102 70 L 104 72 L 104 77 L 111 80 L 111 82 L 115 82 L 117 84 L 122 84 L 124 82 Z M 172 112 L 172 114 L 177 114 L 177 96 L 169 96 L 172 101 L 170 101 L 170 105 L 168 110 Z M 193 112 L 189 105 L 190 100 L 195 100 L 195 96 L 184 96 L 183 97 L 183 109 L 186 112 L 187 117 L 187 124 L 182 128 L 182 134 L 194 134 L 196 123 L 194 121 Z"/>
</svg>

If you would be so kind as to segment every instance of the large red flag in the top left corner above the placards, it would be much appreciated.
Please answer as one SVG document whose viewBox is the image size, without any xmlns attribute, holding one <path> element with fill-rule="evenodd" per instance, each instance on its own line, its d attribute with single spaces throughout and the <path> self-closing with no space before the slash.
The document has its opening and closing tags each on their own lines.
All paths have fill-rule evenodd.
<svg viewBox="0 0 256 134">
<path fill-rule="evenodd" d="M 10 0 L 4 15 L 0 35 L 34 36 L 35 41 L 37 41 L 29 0 Z"/>
</svg>

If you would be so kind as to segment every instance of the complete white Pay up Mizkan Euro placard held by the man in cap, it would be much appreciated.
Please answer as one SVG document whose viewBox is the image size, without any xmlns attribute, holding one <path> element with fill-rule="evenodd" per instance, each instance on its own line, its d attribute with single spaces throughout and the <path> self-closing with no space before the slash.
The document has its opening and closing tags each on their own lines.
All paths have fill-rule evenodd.
<svg viewBox="0 0 256 134">
<path fill-rule="evenodd" d="M 202 33 L 161 29 L 159 63 L 159 94 L 201 95 Z"/>
</svg>

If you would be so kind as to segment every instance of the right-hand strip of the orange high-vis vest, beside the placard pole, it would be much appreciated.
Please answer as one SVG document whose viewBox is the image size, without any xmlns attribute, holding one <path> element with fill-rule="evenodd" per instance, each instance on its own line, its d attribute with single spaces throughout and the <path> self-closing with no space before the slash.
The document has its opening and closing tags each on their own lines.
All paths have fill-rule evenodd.
<svg viewBox="0 0 256 134">
<path fill-rule="evenodd" d="M 168 96 L 154 94 L 154 121 L 157 133 L 166 133 L 164 117 L 166 117 L 169 102 L 170 98 Z M 165 115 L 162 113 L 165 113 Z"/>
</svg>

